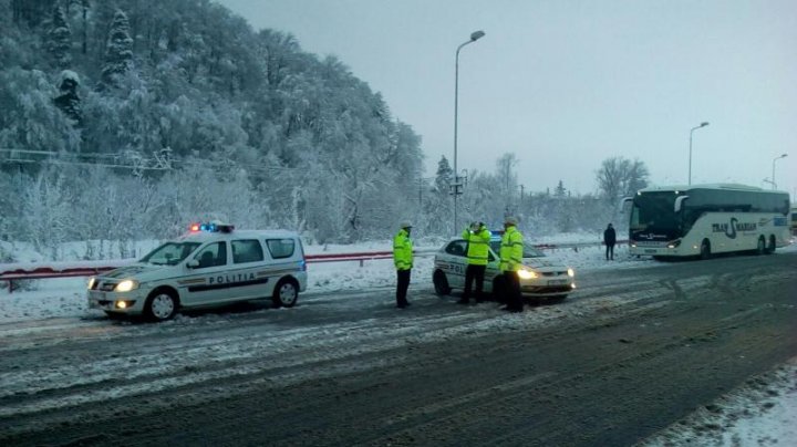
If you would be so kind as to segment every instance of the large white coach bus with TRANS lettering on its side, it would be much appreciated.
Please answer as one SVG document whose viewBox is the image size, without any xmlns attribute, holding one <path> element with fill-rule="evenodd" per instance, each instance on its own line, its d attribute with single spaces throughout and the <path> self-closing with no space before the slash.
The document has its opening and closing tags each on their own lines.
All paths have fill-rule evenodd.
<svg viewBox="0 0 797 447">
<path fill-rule="evenodd" d="M 629 252 L 707 259 L 712 253 L 788 245 L 788 193 L 744 185 L 640 189 L 631 201 Z"/>
</svg>

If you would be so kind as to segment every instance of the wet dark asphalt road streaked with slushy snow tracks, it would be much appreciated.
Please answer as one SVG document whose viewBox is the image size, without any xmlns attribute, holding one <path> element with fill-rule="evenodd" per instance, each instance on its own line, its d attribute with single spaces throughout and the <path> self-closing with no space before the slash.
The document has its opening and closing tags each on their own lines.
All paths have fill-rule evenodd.
<svg viewBox="0 0 797 447">
<path fill-rule="evenodd" d="M 520 315 L 423 280 L 164 324 L 0 324 L 0 444 L 632 445 L 797 356 L 797 252 L 596 270 Z"/>
</svg>

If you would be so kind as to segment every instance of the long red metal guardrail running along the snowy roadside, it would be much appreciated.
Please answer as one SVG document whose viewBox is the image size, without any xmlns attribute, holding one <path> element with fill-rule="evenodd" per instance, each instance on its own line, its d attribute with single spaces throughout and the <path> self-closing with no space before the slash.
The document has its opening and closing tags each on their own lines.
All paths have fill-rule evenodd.
<svg viewBox="0 0 797 447">
<path fill-rule="evenodd" d="M 618 245 L 628 241 L 620 240 Z M 578 243 L 540 243 L 534 247 L 541 250 L 557 250 L 557 249 L 573 249 L 577 250 L 582 247 L 597 247 L 601 246 L 601 242 L 578 242 Z M 439 251 L 438 249 L 421 249 L 415 250 L 416 257 L 427 257 Z M 308 263 L 320 263 L 320 262 L 345 262 L 345 261 L 359 261 L 360 267 L 364 266 L 365 261 L 379 260 L 379 259 L 391 259 L 393 258 L 392 251 L 369 251 L 369 252 L 352 252 L 352 253 L 324 253 L 324 254 L 306 254 L 304 259 Z M 20 280 L 37 280 L 37 279 L 50 279 L 50 278 L 80 278 L 91 277 L 100 274 L 102 272 L 111 271 L 124 267 L 128 263 L 135 262 L 134 260 L 124 261 L 85 261 L 81 262 L 60 262 L 62 267 L 59 267 L 59 262 L 52 264 L 40 266 L 40 264 L 27 264 L 25 267 L 19 267 L 19 264 L 7 264 L 8 269 L 3 269 L 3 264 L 0 264 L 0 281 L 8 281 L 9 293 L 13 291 L 13 281 Z"/>
</svg>

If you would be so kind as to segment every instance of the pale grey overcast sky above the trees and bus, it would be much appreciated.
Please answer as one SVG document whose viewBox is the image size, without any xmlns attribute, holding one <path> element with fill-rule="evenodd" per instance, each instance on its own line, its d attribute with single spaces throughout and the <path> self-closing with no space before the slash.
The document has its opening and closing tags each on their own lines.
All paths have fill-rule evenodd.
<svg viewBox="0 0 797 447">
<path fill-rule="evenodd" d="M 794 0 L 218 0 L 256 29 L 290 32 L 381 92 L 423 136 L 426 175 L 454 157 L 493 170 L 513 152 L 526 190 L 596 190 L 612 156 L 656 185 L 764 183 L 797 191 Z"/>
</svg>

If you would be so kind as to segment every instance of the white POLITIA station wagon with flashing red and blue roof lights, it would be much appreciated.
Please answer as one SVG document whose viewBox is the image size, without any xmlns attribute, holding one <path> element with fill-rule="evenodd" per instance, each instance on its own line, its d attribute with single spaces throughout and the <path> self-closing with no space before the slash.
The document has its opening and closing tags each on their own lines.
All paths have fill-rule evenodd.
<svg viewBox="0 0 797 447">
<path fill-rule="evenodd" d="M 168 320 L 179 309 L 270 298 L 291 308 L 307 288 L 301 240 L 283 230 L 194 224 L 136 263 L 89 280 L 89 306 Z"/>
</svg>

